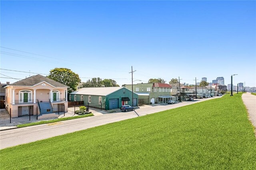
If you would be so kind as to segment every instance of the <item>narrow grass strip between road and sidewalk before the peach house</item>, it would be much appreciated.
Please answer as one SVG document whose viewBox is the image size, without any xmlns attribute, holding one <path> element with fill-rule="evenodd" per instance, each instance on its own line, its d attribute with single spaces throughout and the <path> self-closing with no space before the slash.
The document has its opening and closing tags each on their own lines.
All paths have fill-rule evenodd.
<svg viewBox="0 0 256 170">
<path fill-rule="evenodd" d="M 54 122 L 60 122 L 60 121 L 67 121 L 67 120 L 72 120 L 72 119 L 79 119 L 79 118 L 83 118 L 83 117 L 90 117 L 93 116 L 92 113 L 86 114 L 86 115 L 78 115 L 78 116 L 74 116 L 74 117 L 64 117 L 64 118 L 59 118 L 59 119 L 53 119 L 50 121 L 40 121 L 40 122 L 33 122 L 33 123 L 26 123 L 26 124 L 21 124 L 21 125 L 17 125 L 17 127 L 31 127 L 34 125 L 42 125 L 42 124 L 47 124 L 47 123 L 54 123 Z"/>
</svg>

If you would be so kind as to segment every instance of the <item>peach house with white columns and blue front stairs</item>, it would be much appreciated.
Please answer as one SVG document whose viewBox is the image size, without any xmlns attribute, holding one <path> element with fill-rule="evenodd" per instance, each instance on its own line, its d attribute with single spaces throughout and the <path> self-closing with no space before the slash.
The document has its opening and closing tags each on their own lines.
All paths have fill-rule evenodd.
<svg viewBox="0 0 256 170">
<path fill-rule="evenodd" d="M 5 86 L 5 107 L 12 117 L 22 115 L 47 115 L 68 111 L 68 86 L 44 77 L 34 75 Z M 38 108 L 36 113 L 35 109 Z"/>
</svg>

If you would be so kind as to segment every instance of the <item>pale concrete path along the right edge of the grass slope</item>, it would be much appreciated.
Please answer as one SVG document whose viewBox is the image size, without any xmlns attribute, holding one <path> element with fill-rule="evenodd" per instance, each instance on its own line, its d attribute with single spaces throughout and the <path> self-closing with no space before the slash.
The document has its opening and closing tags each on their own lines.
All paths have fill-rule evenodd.
<svg viewBox="0 0 256 170">
<path fill-rule="evenodd" d="M 254 132 L 256 135 L 256 96 L 251 93 L 244 93 L 242 95 L 242 100 L 248 110 L 248 117 L 254 126 Z"/>
</svg>

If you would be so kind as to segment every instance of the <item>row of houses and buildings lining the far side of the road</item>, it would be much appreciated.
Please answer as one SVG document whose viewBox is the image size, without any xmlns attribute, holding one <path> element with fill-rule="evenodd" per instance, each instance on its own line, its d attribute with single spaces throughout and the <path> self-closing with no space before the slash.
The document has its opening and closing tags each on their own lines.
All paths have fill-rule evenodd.
<svg viewBox="0 0 256 170">
<path fill-rule="evenodd" d="M 133 87 L 133 88 L 132 88 Z M 68 101 L 80 101 L 84 105 L 105 110 L 120 108 L 122 105 L 148 105 L 167 103 L 168 100 L 183 100 L 196 97 L 193 87 L 182 84 L 139 83 L 125 87 L 88 87 L 68 94 L 68 86 L 44 77 L 34 75 L 16 83 L 4 85 L 4 107 L 8 112 L 17 110 L 12 117 L 34 115 L 39 108 L 40 115 L 54 113 L 59 107 L 68 110 Z M 132 92 L 133 89 L 133 92 Z M 214 87 L 197 88 L 198 96 L 216 95 Z M 42 108 L 49 108 L 42 110 Z"/>
</svg>

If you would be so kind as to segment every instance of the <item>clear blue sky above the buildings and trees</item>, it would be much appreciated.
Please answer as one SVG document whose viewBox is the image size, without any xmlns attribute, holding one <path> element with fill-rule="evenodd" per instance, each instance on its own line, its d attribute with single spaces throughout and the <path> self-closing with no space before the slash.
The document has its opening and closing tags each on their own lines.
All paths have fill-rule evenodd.
<svg viewBox="0 0 256 170">
<path fill-rule="evenodd" d="M 255 1 L 1 1 L 0 8 L 0 77 L 34 75 L 2 69 L 66 67 L 122 85 L 133 66 L 144 83 L 224 77 L 228 85 L 238 74 L 234 84 L 256 87 Z"/>
</svg>

